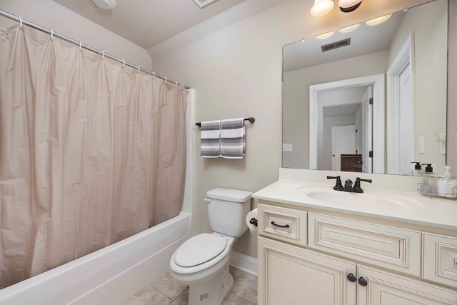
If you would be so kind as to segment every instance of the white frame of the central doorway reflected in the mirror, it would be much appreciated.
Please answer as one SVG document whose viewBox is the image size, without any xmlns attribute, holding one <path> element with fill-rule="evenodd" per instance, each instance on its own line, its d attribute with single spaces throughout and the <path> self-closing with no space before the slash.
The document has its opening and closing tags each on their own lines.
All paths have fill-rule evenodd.
<svg viewBox="0 0 457 305">
<path fill-rule="evenodd" d="M 309 169 L 321 169 L 318 164 L 322 150 L 323 105 L 318 103 L 318 93 L 354 86 L 373 86 L 373 173 L 384 174 L 384 74 L 361 76 L 355 79 L 331 81 L 309 86 Z M 345 104 L 345 103 L 341 103 Z M 376 141 L 376 139 L 382 139 Z"/>
</svg>

